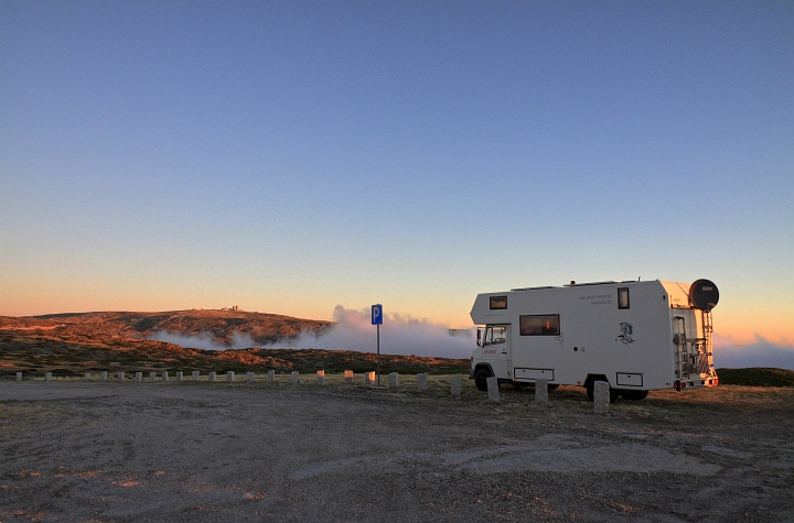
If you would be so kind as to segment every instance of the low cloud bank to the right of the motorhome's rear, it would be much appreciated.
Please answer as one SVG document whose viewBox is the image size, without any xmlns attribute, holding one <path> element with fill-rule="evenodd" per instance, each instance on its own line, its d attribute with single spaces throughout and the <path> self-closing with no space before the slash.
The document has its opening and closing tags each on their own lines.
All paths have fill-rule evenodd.
<svg viewBox="0 0 794 523">
<path fill-rule="evenodd" d="M 747 367 L 776 367 L 794 370 L 794 347 L 766 341 L 760 336 L 752 344 L 740 345 L 731 338 L 713 337 L 715 367 L 742 369 Z"/>
</svg>

